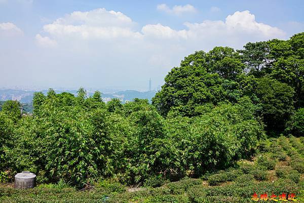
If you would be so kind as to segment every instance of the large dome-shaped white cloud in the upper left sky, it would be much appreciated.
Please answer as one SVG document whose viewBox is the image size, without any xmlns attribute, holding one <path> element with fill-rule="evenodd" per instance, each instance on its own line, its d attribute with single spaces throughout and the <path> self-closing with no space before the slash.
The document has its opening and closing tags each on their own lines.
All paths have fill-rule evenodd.
<svg viewBox="0 0 304 203">
<path fill-rule="evenodd" d="M 96 9 L 73 12 L 43 27 L 53 37 L 68 36 L 82 39 L 140 37 L 132 27 L 135 23 L 121 12 Z"/>
</svg>

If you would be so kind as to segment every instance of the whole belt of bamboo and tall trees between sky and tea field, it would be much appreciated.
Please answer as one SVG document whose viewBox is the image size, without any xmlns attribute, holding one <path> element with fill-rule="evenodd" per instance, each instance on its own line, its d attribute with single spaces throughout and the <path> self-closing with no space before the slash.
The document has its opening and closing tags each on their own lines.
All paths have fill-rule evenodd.
<svg viewBox="0 0 304 203">
<path fill-rule="evenodd" d="M 83 186 L 99 178 L 137 184 L 151 177 L 200 177 L 251 156 L 266 135 L 303 135 L 304 34 L 215 47 L 184 58 L 148 100 L 107 103 L 35 93 L 0 111 L 0 172 L 29 170 L 37 181 Z"/>
</svg>

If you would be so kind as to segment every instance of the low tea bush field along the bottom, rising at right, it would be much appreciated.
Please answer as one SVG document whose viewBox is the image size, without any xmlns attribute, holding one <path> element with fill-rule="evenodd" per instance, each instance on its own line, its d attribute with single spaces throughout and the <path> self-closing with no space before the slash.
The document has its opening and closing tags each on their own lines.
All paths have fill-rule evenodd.
<svg viewBox="0 0 304 203">
<path fill-rule="evenodd" d="M 2 184 L 0 202 L 245 203 L 253 202 L 254 192 L 259 195 L 295 193 L 297 202 L 304 202 L 303 173 L 303 138 L 280 137 L 261 142 L 255 156 L 238 161 L 236 168 L 206 174 L 203 179 L 168 182 L 151 178 L 140 188 L 130 188 L 115 180 L 101 180 L 84 191 L 64 182 L 42 184 L 28 190 Z"/>
</svg>

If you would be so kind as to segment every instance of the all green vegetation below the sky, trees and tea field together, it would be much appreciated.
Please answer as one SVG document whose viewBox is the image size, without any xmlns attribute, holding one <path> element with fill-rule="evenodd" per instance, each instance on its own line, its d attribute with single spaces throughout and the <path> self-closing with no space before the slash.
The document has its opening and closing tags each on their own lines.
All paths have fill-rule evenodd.
<svg viewBox="0 0 304 203">
<path fill-rule="evenodd" d="M 1 198 L 249 202 L 253 192 L 302 198 L 303 53 L 304 33 L 244 50 L 196 52 L 172 68 L 152 104 L 104 103 L 100 92 L 50 89 L 34 93 L 33 115 L 21 116 L 20 104 L 7 101 L 0 111 L 0 181 L 27 170 L 40 186 L 17 191 L 4 184 Z M 144 187 L 126 191 L 131 185 Z"/>
</svg>

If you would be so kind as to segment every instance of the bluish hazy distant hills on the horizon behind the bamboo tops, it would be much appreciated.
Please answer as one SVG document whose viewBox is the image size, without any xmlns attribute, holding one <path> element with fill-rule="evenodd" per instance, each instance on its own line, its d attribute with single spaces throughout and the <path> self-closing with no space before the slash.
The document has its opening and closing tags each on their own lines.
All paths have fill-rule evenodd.
<svg viewBox="0 0 304 203">
<path fill-rule="evenodd" d="M 25 91 L 25 90 L 0 90 L 0 100 L 17 100 L 20 103 L 31 103 L 33 99 L 33 94 L 37 91 Z M 42 92 L 43 94 L 47 94 L 48 90 L 38 91 Z M 57 94 L 62 92 L 68 92 L 73 95 L 77 95 L 77 90 L 56 90 Z M 88 93 L 88 96 L 92 96 L 94 93 Z M 156 94 L 156 91 L 149 91 L 149 92 L 138 92 L 135 90 L 126 90 L 126 91 L 119 91 L 116 93 L 105 93 L 101 94 L 103 101 L 108 102 L 113 98 L 119 98 L 123 103 L 126 101 L 132 101 L 135 98 L 139 99 L 148 99 L 151 102 L 151 99 Z"/>
</svg>

